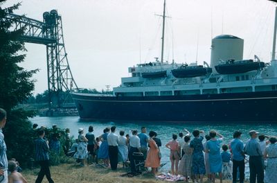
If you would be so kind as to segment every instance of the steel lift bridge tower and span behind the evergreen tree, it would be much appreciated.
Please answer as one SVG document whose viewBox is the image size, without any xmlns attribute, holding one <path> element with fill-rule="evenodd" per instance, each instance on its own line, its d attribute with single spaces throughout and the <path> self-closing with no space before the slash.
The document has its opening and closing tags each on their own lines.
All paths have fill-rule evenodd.
<svg viewBox="0 0 277 183">
<path fill-rule="evenodd" d="M 64 47 L 62 17 L 57 10 L 44 12 L 43 22 L 25 16 L 8 14 L 7 19 L 15 20 L 12 30 L 25 28 L 20 39 L 24 42 L 46 45 L 49 109 L 66 107 L 69 92 L 78 89 L 73 79 L 67 53 Z"/>
</svg>

